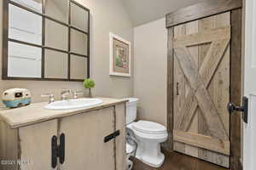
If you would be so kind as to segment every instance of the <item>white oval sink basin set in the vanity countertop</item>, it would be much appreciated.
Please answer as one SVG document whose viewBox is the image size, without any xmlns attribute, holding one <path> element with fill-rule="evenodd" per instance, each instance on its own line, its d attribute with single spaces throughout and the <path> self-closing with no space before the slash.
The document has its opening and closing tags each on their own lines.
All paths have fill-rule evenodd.
<svg viewBox="0 0 256 170">
<path fill-rule="evenodd" d="M 102 99 L 67 99 L 62 101 L 55 101 L 45 105 L 44 108 L 49 110 L 71 110 L 89 107 L 92 105 L 99 105 L 102 104 L 102 102 Z"/>
</svg>

